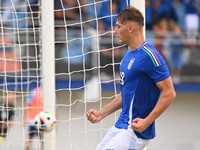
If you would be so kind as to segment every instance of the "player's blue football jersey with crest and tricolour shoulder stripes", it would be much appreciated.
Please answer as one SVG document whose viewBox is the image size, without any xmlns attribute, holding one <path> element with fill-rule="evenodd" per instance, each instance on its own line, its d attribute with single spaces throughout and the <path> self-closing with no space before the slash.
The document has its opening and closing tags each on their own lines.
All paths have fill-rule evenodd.
<svg viewBox="0 0 200 150">
<path fill-rule="evenodd" d="M 135 118 L 146 118 L 155 107 L 160 90 L 156 82 L 169 78 L 170 73 L 162 55 L 152 44 L 144 42 L 135 51 L 130 49 L 120 65 L 122 112 L 115 127 L 127 129 Z M 139 138 L 155 137 L 155 122 Z"/>
</svg>

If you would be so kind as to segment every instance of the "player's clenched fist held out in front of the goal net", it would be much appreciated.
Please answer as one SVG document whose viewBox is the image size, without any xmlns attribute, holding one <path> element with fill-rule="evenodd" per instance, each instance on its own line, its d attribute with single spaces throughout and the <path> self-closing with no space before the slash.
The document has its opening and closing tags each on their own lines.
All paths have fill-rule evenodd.
<svg viewBox="0 0 200 150">
<path fill-rule="evenodd" d="M 87 112 L 87 117 L 91 123 L 97 123 L 103 119 L 101 113 L 94 109 L 91 109 Z"/>
</svg>

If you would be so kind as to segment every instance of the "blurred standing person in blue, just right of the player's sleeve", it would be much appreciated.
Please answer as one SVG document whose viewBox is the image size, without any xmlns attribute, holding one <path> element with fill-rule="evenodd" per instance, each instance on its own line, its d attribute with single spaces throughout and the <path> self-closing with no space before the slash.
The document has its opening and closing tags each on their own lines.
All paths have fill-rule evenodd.
<svg viewBox="0 0 200 150">
<path fill-rule="evenodd" d="M 183 48 L 184 41 L 180 27 L 173 21 L 169 22 L 170 30 L 172 31 L 171 37 L 171 51 L 169 54 L 168 62 L 174 83 L 180 83 L 181 69 L 184 63 Z"/>
</svg>

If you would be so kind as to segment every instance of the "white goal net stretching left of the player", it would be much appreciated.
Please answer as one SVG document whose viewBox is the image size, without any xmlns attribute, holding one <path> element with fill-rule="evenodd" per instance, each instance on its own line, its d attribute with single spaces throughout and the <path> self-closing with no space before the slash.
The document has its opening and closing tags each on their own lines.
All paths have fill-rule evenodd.
<svg viewBox="0 0 200 150">
<path fill-rule="evenodd" d="M 54 10 L 45 11 L 50 7 L 48 0 L 0 2 L 0 149 L 22 150 L 28 144 L 38 150 L 41 143 L 45 149 L 53 139 L 52 150 L 92 150 L 118 118 L 120 111 L 91 124 L 86 112 L 103 108 L 119 93 L 119 65 L 127 47 L 115 39 L 113 30 L 117 14 L 130 2 L 53 2 Z M 50 32 L 53 42 L 44 43 Z M 36 87 L 42 87 L 44 110 L 55 109 L 56 128 L 44 138 L 36 133 L 30 139 L 32 121 L 27 112 L 39 109 L 29 105 Z M 49 101 L 56 101 L 55 106 Z"/>
</svg>

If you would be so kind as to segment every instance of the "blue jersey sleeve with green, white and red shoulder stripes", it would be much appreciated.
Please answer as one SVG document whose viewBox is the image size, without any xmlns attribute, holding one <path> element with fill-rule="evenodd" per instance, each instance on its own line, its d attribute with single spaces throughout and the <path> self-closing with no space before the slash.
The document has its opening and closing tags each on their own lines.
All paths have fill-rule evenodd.
<svg viewBox="0 0 200 150">
<path fill-rule="evenodd" d="M 156 83 L 170 77 L 169 69 L 162 55 L 150 48 L 144 48 L 142 70 Z"/>
</svg>

